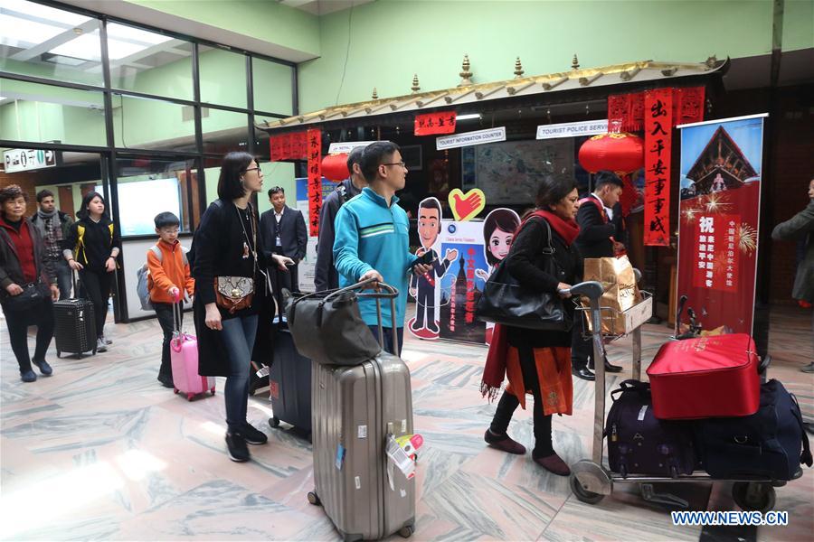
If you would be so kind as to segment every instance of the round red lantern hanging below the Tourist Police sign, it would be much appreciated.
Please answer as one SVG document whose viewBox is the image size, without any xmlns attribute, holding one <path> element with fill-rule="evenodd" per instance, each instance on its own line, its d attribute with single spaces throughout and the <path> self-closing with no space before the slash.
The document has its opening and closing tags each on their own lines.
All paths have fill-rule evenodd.
<svg viewBox="0 0 814 542">
<path fill-rule="evenodd" d="M 580 147 L 580 165 L 591 173 L 632 173 L 644 164 L 644 142 L 627 132 L 594 135 Z"/>
</svg>

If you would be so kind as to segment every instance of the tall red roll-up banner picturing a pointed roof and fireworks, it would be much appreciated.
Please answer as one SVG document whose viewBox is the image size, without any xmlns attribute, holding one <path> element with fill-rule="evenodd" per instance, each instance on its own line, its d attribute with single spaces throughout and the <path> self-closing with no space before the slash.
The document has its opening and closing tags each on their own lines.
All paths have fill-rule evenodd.
<svg viewBox="0 0 814 542">
<path fill-rule="evenodd" d="M 705 330 L 752 333 L 763 117 L 678 126 L 677 295 Z"/>
</svg>

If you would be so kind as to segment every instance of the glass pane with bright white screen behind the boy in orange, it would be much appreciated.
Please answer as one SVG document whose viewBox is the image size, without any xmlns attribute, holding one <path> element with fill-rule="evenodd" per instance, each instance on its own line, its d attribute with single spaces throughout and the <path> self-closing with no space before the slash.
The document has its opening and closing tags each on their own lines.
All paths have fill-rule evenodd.
<svg viewBox="0 0 814 542">
<path fill-rule="evenodd" d="M 154 219 L 169 211 L 191 231 L 200 220 L 198 170 L 193 159 L 134 156 L 117 160 L 118 216 L 123 236 L 152 235 Z"/>
</svg>

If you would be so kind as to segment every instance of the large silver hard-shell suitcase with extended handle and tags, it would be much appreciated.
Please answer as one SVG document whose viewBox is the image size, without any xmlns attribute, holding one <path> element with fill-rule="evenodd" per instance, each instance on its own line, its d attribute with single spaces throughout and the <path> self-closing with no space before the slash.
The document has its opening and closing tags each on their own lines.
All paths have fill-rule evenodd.
<svg viewBox="0 0 814 542">
<path fill-rule="evenodd" d="M 358 286 L 351 286 L 351 288 Z M 395 315 L 398 291 L 380 283 Z M 395 333 L 394 333 L 395 335 Z M 398 351 L 393 337 L 393 350 Z M 412 435 L 410 369 L 385 351 L 361 365 L 312 364 L 312 441 L 315 490 L 345 540 L 375 540 L 415 530 L 415 478 L 408 479 L 385 453 L 390 435 Z"/>
</svg>

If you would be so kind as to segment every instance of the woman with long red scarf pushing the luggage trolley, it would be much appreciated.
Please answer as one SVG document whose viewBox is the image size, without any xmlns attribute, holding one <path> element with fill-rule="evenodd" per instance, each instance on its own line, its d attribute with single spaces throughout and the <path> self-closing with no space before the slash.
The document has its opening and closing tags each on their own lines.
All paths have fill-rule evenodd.
<svg viewBox="0 0 814 542">
<path fill-rule="evenodd" d="M 582 257 L 573 240 L 579 234 L 576 217 L 579 196 L 573 180 L 547 178 L 537 192 L 536 209 L 520 226 L 507 256 L 509 273 L 532 291 L 559 294 L 582 280 Z M 551 227 L 551 238 L 544 222 Z M 544 269 L 544 249 L 554 248 L 560 276 Z M 564 303 L 573 312 L 573 303 Z M 554 452 L 551 440 L 551 416 L 571 415 L 573 388 L 571 377 L 571 331 L 539 331 L 497 325 L 484 369 L 481 391 L 490 399 L 508 378 L 503 397 L 484 439 L 498 450 L 525 453 L 525 446 L 507 435 L 509 422 L 518 405 L 525 409 L 525 396 L 535 398 L 535 449 L 532 459 L 545 470 L 568 476 L 571 469 Z"/>
</svg>

